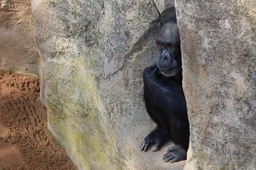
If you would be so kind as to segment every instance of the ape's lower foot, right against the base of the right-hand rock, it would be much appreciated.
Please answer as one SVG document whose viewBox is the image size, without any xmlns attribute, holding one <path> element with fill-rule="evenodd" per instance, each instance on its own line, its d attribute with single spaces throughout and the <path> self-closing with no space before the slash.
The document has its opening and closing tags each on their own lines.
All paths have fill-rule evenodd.
<svg viewBox="0 0 256 170">
<path fill-rule="evenodd" d="M 187 159 L 187 151 L 179 145 L 168 148 L 167 153 L 164 154 L 164 162 L 178 162 Z"/>
</svg>

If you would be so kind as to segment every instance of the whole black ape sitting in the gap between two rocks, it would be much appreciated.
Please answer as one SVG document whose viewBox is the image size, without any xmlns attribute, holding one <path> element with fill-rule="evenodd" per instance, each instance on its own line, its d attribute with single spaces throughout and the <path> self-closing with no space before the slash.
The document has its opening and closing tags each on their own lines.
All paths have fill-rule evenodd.
<svg viewBox="0 0 256 170">
<path fill-rule="evenodd" d="M 148 114 L 157 127 L 141 143 L 141 150 L 159 150 L 172 139 L 175 146 L 163 156 L 164 162 L 186 159 L 189 145 L 187 106 L 182 89 L 182 63 L 179 30 L 175 19 L 161 24 L 157 45 L 161 56 L 157 65 L 143 73 L 144 99 Z"/>
</svg>

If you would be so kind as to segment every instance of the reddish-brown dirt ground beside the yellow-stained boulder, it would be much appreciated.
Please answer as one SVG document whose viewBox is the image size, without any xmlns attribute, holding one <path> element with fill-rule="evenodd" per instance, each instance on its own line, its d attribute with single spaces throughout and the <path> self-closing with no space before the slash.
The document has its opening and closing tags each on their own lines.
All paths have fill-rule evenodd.
<svg viewBox="0 0 256 170">
<path fill-rule="evenodd" d="M 47 131 L 40 81 L 0 72 L 0 169 L 76 169 Z"/>
</svg>

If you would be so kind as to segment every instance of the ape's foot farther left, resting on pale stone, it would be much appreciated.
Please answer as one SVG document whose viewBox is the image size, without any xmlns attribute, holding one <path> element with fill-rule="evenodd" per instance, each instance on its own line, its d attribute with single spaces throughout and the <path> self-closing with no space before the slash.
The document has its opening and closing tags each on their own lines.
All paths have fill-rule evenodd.
<svg viewBox="0 0 256 170">
<path fill-rule="evenodd" d="M 144 138 L 144 141 L 140 145 L 141 151 L 147 152 L 148 148 L 153 146 L 152 151 L 156 152 L 169 139 L 170 135 L 163 129 L 157 127 L 154 131 L 148 134 L 146 138 Z"/>
</svg>

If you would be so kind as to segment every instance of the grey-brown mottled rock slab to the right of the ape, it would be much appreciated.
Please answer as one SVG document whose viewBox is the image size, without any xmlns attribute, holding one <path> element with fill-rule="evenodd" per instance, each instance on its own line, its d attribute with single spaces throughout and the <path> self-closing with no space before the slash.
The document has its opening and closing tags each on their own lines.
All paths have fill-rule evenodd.
<svg viewBox="0 0 256 170">
<path fill-rule="evenodd" d="M 176 1 L 190 123 L 185 169 L 256 168 L 256 1 Z"/>
</svg>

